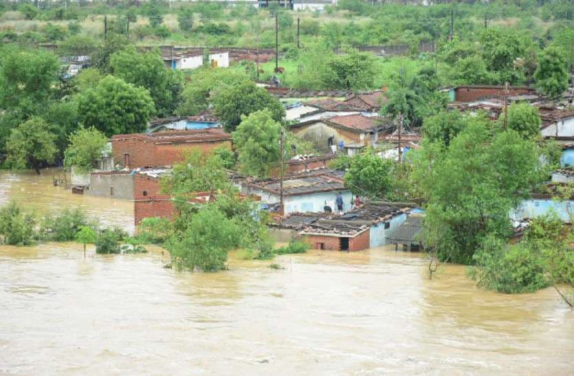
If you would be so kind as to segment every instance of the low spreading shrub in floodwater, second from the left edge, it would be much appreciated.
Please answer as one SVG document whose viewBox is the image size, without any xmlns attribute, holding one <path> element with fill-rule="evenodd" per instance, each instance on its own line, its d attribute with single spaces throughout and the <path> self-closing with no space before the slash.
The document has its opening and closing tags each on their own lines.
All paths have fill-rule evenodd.
<svg viewBox="0 0 574 376">
<path fill-rule="evenodd" d="M 56 217 L 46 216 L 41 225 L 41 235 L 51 241 L 72 241 L 82 228 L 96 228 L 97 224 L 91 221 L 81 209 L 64 209 Z"/>
</svg>

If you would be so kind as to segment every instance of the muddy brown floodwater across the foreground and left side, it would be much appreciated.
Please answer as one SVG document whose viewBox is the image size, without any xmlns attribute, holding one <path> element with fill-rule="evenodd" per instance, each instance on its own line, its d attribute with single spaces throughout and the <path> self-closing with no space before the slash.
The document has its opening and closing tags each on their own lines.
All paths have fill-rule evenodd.
<svg viewBox="0 0 574 376">
<path fill-rule="evenodd" d="M 0 172 L 0 200 L 131 221 L 129 203 L 51 179 Z M 454 265 L 428 280 L 423 255 L 388 247 L 281 256 L 279 270 L 236 254 L 213 274 L 167 261 L 155 247 L 0 247 L 0 374 L 574 373 L 574 312 L 552 289 L 494 294 Z"/>
</svg>

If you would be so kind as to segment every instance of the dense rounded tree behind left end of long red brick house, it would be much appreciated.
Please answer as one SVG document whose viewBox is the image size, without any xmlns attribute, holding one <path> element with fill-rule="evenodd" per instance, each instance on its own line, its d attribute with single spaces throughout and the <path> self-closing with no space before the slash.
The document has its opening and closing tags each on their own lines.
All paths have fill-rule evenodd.
<svg viewBox="0 0 574 376">
<path fill-rule="evenodd" d="M 94 126 L 108 137 L 144 131 L 153 113 L 153 100 L 146 89 L 113 76 L 102 78 L 98 86 L 78 98 L 82 124 Z"/>
</svg>

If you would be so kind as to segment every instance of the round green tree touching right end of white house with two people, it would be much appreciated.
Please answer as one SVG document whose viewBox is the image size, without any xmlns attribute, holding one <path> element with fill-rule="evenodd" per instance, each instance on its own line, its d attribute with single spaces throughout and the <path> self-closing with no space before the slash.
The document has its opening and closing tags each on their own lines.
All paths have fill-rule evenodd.
<svg viewBox="0 0 574 376">
<path fill-rule="evenodd" d="M 351 159 L 345 173 L 345 186 L 353 195 L 384 199 L 393 190 L 393 162 L 375 154 L 373 149 Z"/>
</svg>

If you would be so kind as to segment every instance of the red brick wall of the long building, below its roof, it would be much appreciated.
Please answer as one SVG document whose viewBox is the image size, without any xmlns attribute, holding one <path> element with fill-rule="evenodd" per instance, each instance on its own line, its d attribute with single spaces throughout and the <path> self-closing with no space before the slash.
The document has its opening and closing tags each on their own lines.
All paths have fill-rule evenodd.
<svg viewBox="0 0 574 376">
<path fill-rule="evenodd" d="M 199 148 L 209 153 L 214 148 L 225 146 L 231 149 L 231 141 L 189 142 L 184 144 L 153 144 L 143 140 L 112 140 L 113 159 L 124 165 L 124 155 L 129 154 L 129 167 L 170 166 L 183 160 L 183 152 Z"/>
</svg>

